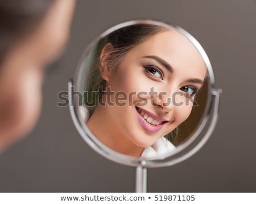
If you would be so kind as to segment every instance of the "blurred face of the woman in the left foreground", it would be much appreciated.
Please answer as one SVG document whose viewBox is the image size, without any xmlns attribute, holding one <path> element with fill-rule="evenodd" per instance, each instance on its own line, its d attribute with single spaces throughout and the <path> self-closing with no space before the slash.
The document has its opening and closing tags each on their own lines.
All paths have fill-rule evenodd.
<svg viewBox="0 0 256 204">
<path fill-rule="evenodd" d="M 44 68 L 62 52 L 75 0 L 56 0 L 33 32 L 7 54 L 0 73 L 0 151 L 38 120 Z"/>
</svg>

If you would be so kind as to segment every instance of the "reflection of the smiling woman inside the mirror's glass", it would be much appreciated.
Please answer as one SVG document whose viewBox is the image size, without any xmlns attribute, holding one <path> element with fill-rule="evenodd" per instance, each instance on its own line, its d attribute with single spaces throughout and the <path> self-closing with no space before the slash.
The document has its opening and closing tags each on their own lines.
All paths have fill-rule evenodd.
<svg viewBox="0 0 256 204">
<path fill-rule="evenodd" d="M 200 125 L 207 67 L 175 29 L 119 28 L 97 41 L 83 66 L 80 112 L 93 135 L 112 150 L 142 158 L 166 154 Z"/>
</svg>

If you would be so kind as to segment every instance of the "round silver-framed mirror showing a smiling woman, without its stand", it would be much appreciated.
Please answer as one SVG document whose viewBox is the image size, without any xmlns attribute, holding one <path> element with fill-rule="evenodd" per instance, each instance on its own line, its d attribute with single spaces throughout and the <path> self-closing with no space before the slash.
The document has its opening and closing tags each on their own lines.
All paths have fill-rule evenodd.
<svg viewBox="0 0 256 204">
<path fill-rule="evenodd" d="M 69 82 L 82 138 L 106 158 L 134 166 L 162 167 L 194 154 L 216 124 L 219 99 L 199 42 L 152 20 L 102 33 Z"/>
</svg>

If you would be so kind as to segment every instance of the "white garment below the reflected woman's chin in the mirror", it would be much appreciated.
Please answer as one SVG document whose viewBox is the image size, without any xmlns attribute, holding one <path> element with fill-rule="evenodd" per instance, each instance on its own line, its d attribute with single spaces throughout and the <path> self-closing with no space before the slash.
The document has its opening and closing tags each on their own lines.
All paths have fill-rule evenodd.
<svg viewBox="0 0 256 204">
<path fill-rule="evenodd" d="M 172 145 L 165 137 L 159 138 L 154 145 L 144 148 L 141 156 L 144 158 L 151 158 L 153 156 L 159 156 L 166 154 L 167 152 L 174 151 L 175 146 Z"/>
</svg>

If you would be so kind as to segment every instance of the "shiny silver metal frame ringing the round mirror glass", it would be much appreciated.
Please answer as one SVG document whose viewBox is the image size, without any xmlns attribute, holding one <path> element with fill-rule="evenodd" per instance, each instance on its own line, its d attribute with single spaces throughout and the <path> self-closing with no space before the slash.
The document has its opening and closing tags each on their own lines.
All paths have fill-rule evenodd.
<svg viewBox="0 0 256 204">
<path fill-rule="evenodd" d="M 204 114 L 200 120 L 200 124 L 197 125 L 197 130 L 192 134 L 192 136 L 188 139 L 187 142 L 179 145 L 176 147 L 174 151 L 168 152 L 167 154 L 156 156 L 154 158 L 135 158 L 133 156 L 123 155 L 119 152 L 113 151 L 109 147 L 102 144 L 98 139 L 91 133 L 91 131 L 86 126 L 85 122 L 82 120 L 79 111 L 79 101 L 73 97 L 74 91 L 77 90 L 78 87 L 78 78 L 80 71 L 82 69 L 82 65 L 85 62 L 85 58 L 88 56 L 90 50 L 97 44 L 98 40 L 102 37 L 105 37 L 109 33 L 122 28 L 127 27 L 129 25 L 135 24 L 153 24 L 158 25 L 168 29 L 174 29 L 177 32 L 181 33 L 181 35 L 187 37 L 189 41 L 196 47 L 196 49 L 201 54 L 205 65 L 207 66 L 208 70 L 208 100 L 204 110 Z M 213 69 L 210 65 L 209 58 L 205 53 L 203 47 L 199 44 L 199 42 L 191 36 L 187 31 L 180 27 L 172 27 L 166 23 L 158 22 L 155 20 L 131 20 L 129 22 L 117 24 L 112 28 L 107 29 L 103 32 L 100 36 L 98 36 L 86 49 L 85 52 L 82 54 L 82 58 L 80 60 L 79 66 L 77 67 L 75 76 L 73 80 L 69 80 L 68 82 L 68 92 L 69 92 L 69 109 L 71 112 L 72 120 L 79 131 L 81 137 L 84 139 L 86 143 L 90 147 L 93 148 L 98 154 L 104 156 L 105 158 L 112 160 L 113 162 L 117 162 L 119 164 L 134 166 L 134 167 L 166 167 L 170 165 L 174 165 L 176 163 L 183 162 L 183 160 L 188 159 L 197 151 L 200 150 L 201 147 L 208 141 L 210 135 L 212 134 L 214 127 L 217 123 L 218 118 L 218 111 L 219 111 L 219 104 L 220 104 L 220 96 L 221 90 L 214 88 L 214 75 Z M 209 118 L 211 120 L 209 121 Z M 205 134 L 201 134 L 203 130 L 208 126 L 208 129 L 205 131 Z"/>
</svg>

